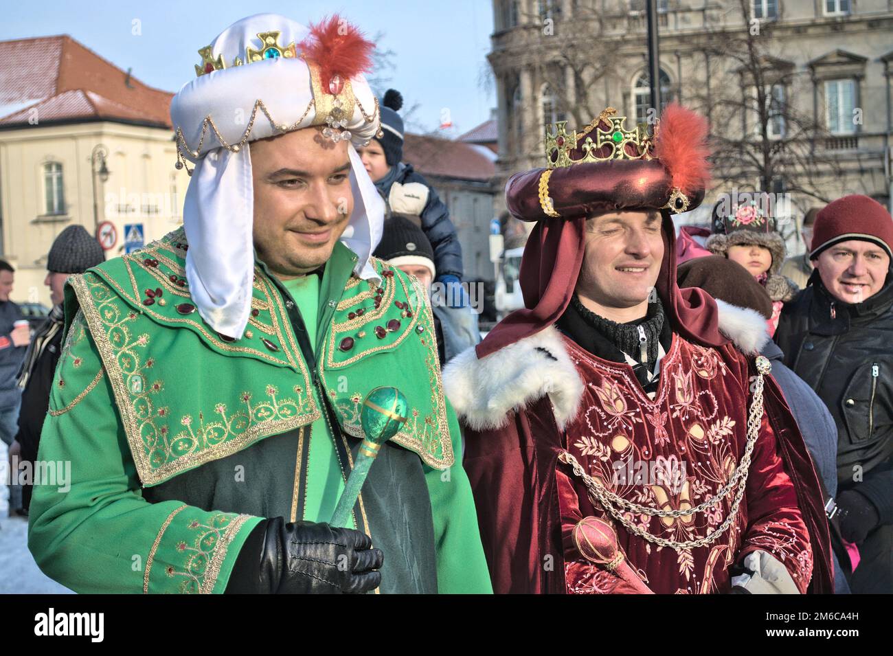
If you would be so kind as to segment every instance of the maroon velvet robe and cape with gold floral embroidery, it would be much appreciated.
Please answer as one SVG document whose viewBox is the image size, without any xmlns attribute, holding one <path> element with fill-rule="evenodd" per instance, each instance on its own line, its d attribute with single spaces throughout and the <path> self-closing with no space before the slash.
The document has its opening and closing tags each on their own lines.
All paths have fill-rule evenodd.
<svg viewBox="0 0 893 656">
<path fill-rule="evenodd" d="M 571 539 L 576 523 L 590 515 L 610 518 L 589 501 L 572 469 L 558 462 L 563 449 L 591 476 L 607 477 L 616 494 L 666 509 L 697 506 L 713 496 L 747 441 L 747 386 L 755 371 L 748 365 L 753 359 L 733 346 L 704 347 L 674 335 L 652 402 L 628 365 L 603 361 L 569 339 L 564 343 L 586 384 L 580 412 L 565 430 L 559 430 L 547 395 L 512 412 L 503 428 L 466 429 L 464 466 L 497 593 L 630 592 L 577 552 Z M 728 569 L 756 549 L 781 561 L 801 592 L 810 575 L 812 591 L 832 591 L 827 522 L 812 462 L 774 381 L 765 377 L 764 383 L 764 419 L 746 493 L 739 517 L 722 536 L 677 553 L 611 520 L 630 566 L 656 593 L 728 592 Z M 612 463 L 624 458 L 685 461 L 685 484 L 613 485 Z M 717 506 L 719 512 L 651 518 L 647 527 L 677 541 L 704 536 L 729 506 L 730 498 Z"/>
</svg>

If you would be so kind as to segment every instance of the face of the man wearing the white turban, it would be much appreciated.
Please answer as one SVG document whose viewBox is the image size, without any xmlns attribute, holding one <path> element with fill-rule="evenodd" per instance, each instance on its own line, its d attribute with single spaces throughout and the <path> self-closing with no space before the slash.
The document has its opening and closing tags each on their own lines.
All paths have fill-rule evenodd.
<svg viewBox="0 0 893 656">
<path fill-rule="evenodd" d="M 251 143 L 258 257 L 279 278 L 328 262 L 354 209 L 347 142 L 305 128 Z"/>
</svg>

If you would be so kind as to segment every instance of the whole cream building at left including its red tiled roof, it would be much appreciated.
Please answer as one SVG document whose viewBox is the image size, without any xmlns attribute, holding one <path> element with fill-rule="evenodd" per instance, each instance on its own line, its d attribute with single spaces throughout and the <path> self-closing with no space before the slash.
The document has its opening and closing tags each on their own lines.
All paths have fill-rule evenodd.
<svg viewBox="0 0 893 656">
<path fill-rule="evenodd" d="M 124 252 L 127 226 L 147 243 L 179 225 L 188 177 L 173 168 L 171 97 L 67 35 L 0 41 L 0 257 L 16 269 L 13 301 L 49 307 L 46 256 L 70 225 L 95 235 L 109 221 L 106 257 Z"/>
</svg>

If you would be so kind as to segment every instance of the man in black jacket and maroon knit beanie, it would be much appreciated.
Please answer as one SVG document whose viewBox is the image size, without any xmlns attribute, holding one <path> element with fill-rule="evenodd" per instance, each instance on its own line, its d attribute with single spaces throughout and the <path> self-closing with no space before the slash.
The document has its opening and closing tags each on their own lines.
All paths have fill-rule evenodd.
<svg viewBox="0 0 893 656">
<path fill-rule="evenodd" d="M 776 333 L 786 363 L 837 424 L 840 528 L 858 550 L 854 593 L 893 593 L 891 248 L 893 220 L 880 203 L 830 203 L 815 220 L 809 286 Z"/>
</svg>

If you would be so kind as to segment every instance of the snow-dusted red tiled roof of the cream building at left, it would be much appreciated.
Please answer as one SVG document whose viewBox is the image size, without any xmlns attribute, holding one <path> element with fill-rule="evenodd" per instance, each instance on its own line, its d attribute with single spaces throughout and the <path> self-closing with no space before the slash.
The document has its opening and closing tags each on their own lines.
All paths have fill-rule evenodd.
<svg viewBox="0 0 893 656">
<path fill-rule="evenodd" d="M 127 120 L 171 128 L 173 94 L 148 87 L 73 38 L 0 41 L 0 125 Z"/>
</svg>

